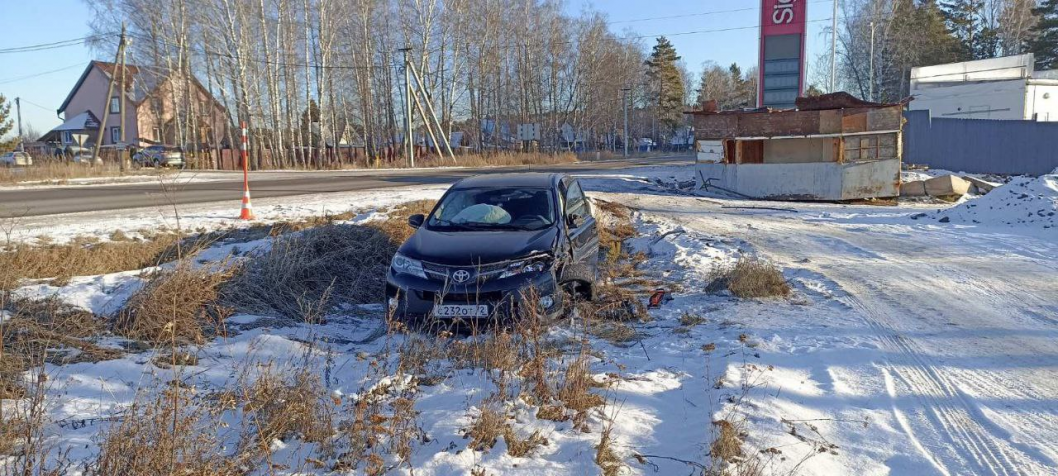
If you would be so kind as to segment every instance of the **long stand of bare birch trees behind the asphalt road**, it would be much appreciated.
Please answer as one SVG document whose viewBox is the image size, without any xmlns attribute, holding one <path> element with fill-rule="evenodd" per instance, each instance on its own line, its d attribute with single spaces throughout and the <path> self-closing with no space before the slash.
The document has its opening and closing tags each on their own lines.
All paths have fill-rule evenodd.
<svg viewBox="0 0 1058 476">
<path fill-rule="evenodd" d="M 622 90 L 638 111 L 633 136 L 654 134 L 659 116 L 676 127 L 659 108 L 685 103 L 686 81 L 678 97 L 660 86 L 673 81 L 672 55 L 652 63 L 642 38 L 613 33 L 598 12 L 567 15 L 559 0 L 87 3 L 93 30 L 108 35 L 101 53 L 111 51 L 125 21 L 128 63 L 198 78 L 232 126 L 249 124 L 252 149 L 278 152 L 267 154 L 267 166 L 321 165 L 313 161 L 334 159 L 318 152 L 343 138 L 370 157 L 399 150 L 404 48 L 442 127 L 463 132 L 477 150 L 511 147 L 522 123 L 541 124 L 542 147 L 619 149 Z M 574 144 L 564 125 L 576 131 Z M 189 108 L 172 127 L 185 143 L 200 135 Z"/>
</svg>

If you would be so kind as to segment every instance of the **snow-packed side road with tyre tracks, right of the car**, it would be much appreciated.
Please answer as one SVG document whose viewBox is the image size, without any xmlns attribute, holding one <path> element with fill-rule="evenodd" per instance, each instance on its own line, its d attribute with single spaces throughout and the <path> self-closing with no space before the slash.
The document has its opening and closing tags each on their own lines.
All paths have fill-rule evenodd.
<svg viewBox="0 0 1058 476">
<path fill-rule="evenodd" d="M 892 474 L 1058 474 L 1055 240 L 878 223 L 886 208 L 800 205 L 791 214 L 636 201 L 690 230 L 747 241 L 857 315 L 861 328 L 822 340 L 819 347 L 835 347 L 828 358 L 780 360 L 806 367 L 819 387 L 789 397 L 797 404 L 829 418 L 883 408 L 878 425 L 896 431 L 844 428 L 836 439 L 869 447 L 902 435 L 906 444 L 879 441 L 893 446 L 884 458 Z"/>
</svg>

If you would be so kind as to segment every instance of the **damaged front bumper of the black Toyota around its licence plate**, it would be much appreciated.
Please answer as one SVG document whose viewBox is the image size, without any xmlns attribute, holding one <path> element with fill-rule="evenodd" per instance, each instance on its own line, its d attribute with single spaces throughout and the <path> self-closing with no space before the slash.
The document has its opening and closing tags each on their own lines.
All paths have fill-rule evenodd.
<svg viewBox="0 0 1058 476">
<path fill-rule="evenodd" d="M 395 318 L 409 323 L 509 323 L 530 309 L 546 316 L 558 315 L 564 295 L 557 282 L 551 271 L 463 286 L 398 274 L 390 269 L 386 276 L 386 303 Z M 535 308 L 530 299 L 535 300 Z M 550 306 L 546 306 L 548 304 Z M 437 305 L 485 305 L 488 306 L 488 316 L 439 317 L 434 315 Z"/>
</svg>

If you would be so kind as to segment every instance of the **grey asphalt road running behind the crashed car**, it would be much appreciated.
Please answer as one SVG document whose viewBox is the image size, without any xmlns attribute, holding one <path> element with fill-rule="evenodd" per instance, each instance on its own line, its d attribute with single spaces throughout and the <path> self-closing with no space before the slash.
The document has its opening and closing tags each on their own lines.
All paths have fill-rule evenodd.
<svg viewBox="0 0 1058 476">
<path fill-rule="evenodd" d="M 532 171 L 583 173 L 651 165 L 690 164 L 693 158 L 664 157 L 531 167 Z M 527 171 L 530 167 L 486 167 L 408 170 L 338 170 L 321 172 L 251 172 L 254 198 L 289 197 L 378 188 L 452 183 L 480 173 Z M 78 185 L 0 190 L 0 215 L 39 217 L 78 212 L 102 212 L 169 204 L 238 201 L 242 175 L 231 180 L 164 185 L 143 182 L 127 185 Z"/>
</svg>

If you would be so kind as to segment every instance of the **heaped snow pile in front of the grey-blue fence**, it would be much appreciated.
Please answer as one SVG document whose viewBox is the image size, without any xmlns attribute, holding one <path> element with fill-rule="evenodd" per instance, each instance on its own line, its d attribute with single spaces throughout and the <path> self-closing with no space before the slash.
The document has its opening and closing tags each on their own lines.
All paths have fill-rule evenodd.
<svg viewBox="0 0 1058 476">
<path fill-rule="evenodd" d="M 1019 177 L 988 195 L 936 215 L 943 222 L 1058 227 L 1058 175 Z"/>
</svg>

